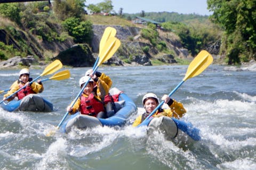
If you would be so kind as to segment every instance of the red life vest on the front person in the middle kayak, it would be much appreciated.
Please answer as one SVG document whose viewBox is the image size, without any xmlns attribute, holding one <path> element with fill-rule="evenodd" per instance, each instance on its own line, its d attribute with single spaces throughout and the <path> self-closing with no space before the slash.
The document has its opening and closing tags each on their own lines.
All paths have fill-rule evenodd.
<svg viewBox="0 0 256 170">
<path fill-rule="evenodd" d="M 93 94 L 88 97 L 81 96 L 80 112 L 81 114 L 97 117 L 99 112 L 104 112 L 104 106 L 101 101 L 96 99 Z"/>
</svg>

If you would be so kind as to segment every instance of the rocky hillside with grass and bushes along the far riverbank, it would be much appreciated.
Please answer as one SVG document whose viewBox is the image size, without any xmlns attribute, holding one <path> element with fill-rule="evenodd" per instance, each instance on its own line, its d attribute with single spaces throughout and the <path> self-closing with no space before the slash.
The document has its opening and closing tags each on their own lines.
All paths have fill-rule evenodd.
<svg viewBox="0 0 256 170">
<path fill-rule="evenodd" d="M 76 43 L 76 39 L 63 28 L 62 21 L 51 12 L 30 13 L 26 17 L 33 19 L 34 28 L 20 27 L 9 19 L 0 18 L 0 60 L 34 56 L 34 64 L 58 58 L 66 65 L 90 66 L 98 56 L 99 41 L 108 25 L 117 29 L 117 38 L 122 42 L 115 56 L 106 63 L 108 65 L 182 64 L 191 60 L 189 50 L 176 33 L 134 24 L 119 16 L 83 15 L 82 21 L 93 25 L 92 39 L 85 44 Z M 74 62 L 73 58 L 78 58 L 78 55 L 81 61 Z M 26 65 L 26 62 L 18 62 L 18 65 Z"/>
</svg>

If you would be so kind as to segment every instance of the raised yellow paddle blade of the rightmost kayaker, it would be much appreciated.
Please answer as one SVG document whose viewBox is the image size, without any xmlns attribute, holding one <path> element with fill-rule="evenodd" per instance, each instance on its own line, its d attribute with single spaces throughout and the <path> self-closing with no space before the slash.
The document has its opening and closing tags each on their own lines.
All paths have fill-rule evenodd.
<svg viewBox="0 0 256 170">
<path fill-rule="evenodd" d="M 213 57 L 206 50 L 202 50 L 189 64 L 183 81 L 193 78 L 202 73 L 213 61 Z"/>
</svg>

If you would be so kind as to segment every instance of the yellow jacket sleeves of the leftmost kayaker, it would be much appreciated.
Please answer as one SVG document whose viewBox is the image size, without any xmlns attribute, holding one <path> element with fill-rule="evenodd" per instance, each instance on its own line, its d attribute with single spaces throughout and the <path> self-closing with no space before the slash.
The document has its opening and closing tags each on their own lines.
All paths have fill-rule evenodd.
<svg viewBox="0 0 256 170">
<path fill-rule="evenodd" d="M 8 97 L 8 96 L 11 96 L 12 94 L 14 94 L 14 92 L 16 92 L 17 90 L 20 89 L 19 87 L 19 84 L 22 83 L 21 81 L 17 80 L 15 81 L 10 90 L 7 92 L 7 94 L 4 95 L 4 97 Z M 23 85 L 25 85 L 24 83 L 22 83 Z M 38 94 L 38 92 L 43 92 L 44 90 L 44 87 L 43 87 L 43 84 L 39 84 L 37 82 L 33 82 L 31 83 L 30 85 L 31 89 L 36 93 Z M 17 94 L 15 94 L 14 96 L 17 96 Z M 11 98 L 8 99 L 8 101 L 12 100 Z"/>
</svg>

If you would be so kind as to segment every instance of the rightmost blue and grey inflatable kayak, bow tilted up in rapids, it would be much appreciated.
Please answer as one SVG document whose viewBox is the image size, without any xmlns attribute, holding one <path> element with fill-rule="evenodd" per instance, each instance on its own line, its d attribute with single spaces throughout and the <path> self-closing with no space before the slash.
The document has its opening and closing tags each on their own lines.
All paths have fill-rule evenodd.
<svg viewBox="0 0 256 170">
<path fill-rule="evenodd" d="M 164 134 L 166 140 L 173 141 L 174 143 L 191 143 L 201 140 L 199 129 L 193 127 L 189 122 L 181 121 L 173 117 L 154 117 L 142 123 L 140 126 L 148 126 L 148 135 L 156 131 L 161 132 Z"/>
</svg>

